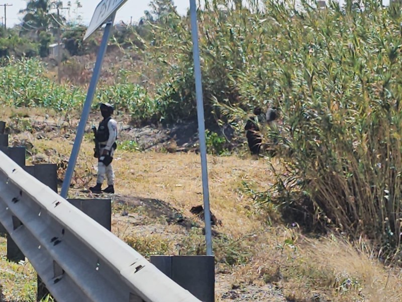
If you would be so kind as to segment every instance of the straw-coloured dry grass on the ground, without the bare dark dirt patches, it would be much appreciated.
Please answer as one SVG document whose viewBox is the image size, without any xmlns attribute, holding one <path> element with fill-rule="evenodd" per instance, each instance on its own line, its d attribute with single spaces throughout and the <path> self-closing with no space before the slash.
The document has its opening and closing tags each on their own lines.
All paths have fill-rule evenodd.
<svg viewBox="0 0 402 302">
<path fill-rule="evenodd" d="M 13 138 L 22 135 L 32 140 L 37 153 L 49 154 L 46 160 L 52 163 L 61 155 L 70 154 L 72 138 L 37 139 L 31 133 Z M 82 194 L 82 186 L 94 182 L 95 164 L 92 144 L 86 136 L 74 178 L 76 188 L 70 191 L 71 195 Z M 189 211 L 203 203 L 199 155 L 118 150 L 114 167 L 118 195 L 162 200 L 202 225 Z M 232 285 L 247 290 L 250 284 L 260 288 L 274 284 L 293 301 L 307 301 L 314 296 L 331 301 L 401 299 L 401 272 L 370 259 L 366 250 L 359 252 L 333 237 L 308 239 L 297 228 L 266 223 L 267 215 L 275 214 L 254 204 L 242 187 L 242 182 L 247 182 L 257 190 L 267 189 L 271 172 L 264 161 L 208 156 L 208 168 L 211 209 L 222 221 L 214 229 L 226 235 L 225 240 L 214 241 L 218 259 L 217 301 Z M 177 254 L 176 244 L 181 245 L 184 254 L 203 252 L 204 237 L 199 232 L 189 233 L 178 225 L 146 219 L 146 213 L 143 214 L 138 216 L 143 219 L 141 229 L 114 216 L 113 232 L 144 254 Z M 32 297 L 36 284 L 32 267 L 6 262 L 4 240 L 0 246 L 0 283 L 6 298 Z M 228 257 L 235 258 L 234 265 L 228 264 Z"/>
</svg>

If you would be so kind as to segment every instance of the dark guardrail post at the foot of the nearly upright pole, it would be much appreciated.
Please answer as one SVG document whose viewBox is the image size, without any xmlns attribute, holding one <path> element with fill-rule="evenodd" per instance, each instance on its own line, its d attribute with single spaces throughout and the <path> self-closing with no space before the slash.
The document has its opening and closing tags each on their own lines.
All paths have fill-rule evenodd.
<svg viewBox="0 0 402 302">
<path fill-rule="evenodd" d="M 214 256 L 151 256 L 162 273 L 204 302 L 215 302 Z"/>
</svg>

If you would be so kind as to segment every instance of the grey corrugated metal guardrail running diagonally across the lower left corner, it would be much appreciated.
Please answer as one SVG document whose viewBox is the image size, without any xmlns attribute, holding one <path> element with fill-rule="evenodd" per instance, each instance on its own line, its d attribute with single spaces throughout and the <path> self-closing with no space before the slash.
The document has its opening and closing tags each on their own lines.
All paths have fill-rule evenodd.
<svg viewBox="0 0 402 302">
<path fill-rule="evenodd" d="M 58 302 L 201 302 L 3 152 L 0 222 Z"/>
</svg>

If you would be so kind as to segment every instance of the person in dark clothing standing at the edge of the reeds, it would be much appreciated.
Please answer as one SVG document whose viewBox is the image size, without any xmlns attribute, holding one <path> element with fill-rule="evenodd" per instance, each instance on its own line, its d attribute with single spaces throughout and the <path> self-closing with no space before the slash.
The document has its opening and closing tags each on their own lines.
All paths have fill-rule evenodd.
<svg viewBox="0 0 402 302">
<path fill-rule="evenodd" d="M 262 114 L 262 109 L 260 107 L 255 107 L 253 110 L 254 116 L 250 116 L 244 127 L 246 130 L 246 137 L 248 147 L 250 149 L 252 156 L 258 156 L 261 149 L 261 134 L 259 124 L 264 121 L 264 116 Z"/>
</svg>

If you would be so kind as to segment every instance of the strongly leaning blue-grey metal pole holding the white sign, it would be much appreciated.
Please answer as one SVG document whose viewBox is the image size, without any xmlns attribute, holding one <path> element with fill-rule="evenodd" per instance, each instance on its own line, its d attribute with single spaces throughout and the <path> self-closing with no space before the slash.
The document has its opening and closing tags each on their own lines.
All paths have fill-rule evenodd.
<svg viewBox="0 0 402 302">
<path fill-rule="evenodd" d="M 102 43 L 100 44 L 99 52 L 96 58 L 95 68 L 93 69 L 92 79 L 89 83 L 88 94 L 82 109 L 81 119 L 78 123 L 77 134 L 75 136 L 74 145 L 72 147 L 71 156 L 68 161 L 66 175 L 64 177 L 63 185 L 61 188 L 61 197 L 67 198 L 68 188 L 71 183 L 71 178 L 74 173 L 75 163 L 77 161 L 79 148 L 81 146 L 82 137 L 85 132 L 85 125 L 88 120 L 89 112 L 91 109 L 92 99 L 95 94 L 96 85 L 99 80 L 100 70 L 105 57 L 106 49 L 108 48 L 108 41 L 112 32 L 113 23 L 115 22 L 116 13 L 111 16 L 111 20 L 106 24 Z"/>
</svg>

